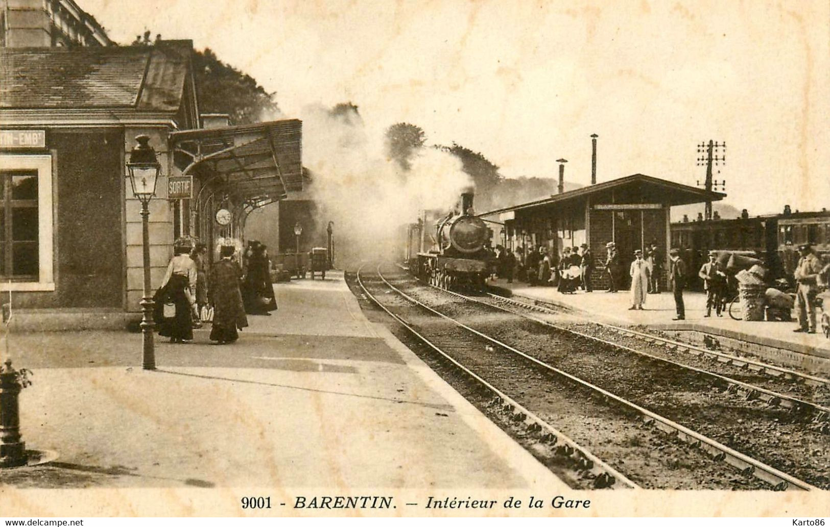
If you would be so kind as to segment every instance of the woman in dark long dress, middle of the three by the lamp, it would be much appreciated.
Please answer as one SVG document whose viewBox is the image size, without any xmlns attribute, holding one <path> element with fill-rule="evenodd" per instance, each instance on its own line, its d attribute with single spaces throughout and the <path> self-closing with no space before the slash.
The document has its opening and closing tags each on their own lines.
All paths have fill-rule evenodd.
<svg viewBox="0 0 830 527">
<path fill-rule="evenodd" d="M 217 341 L 217 344 L 236 341 L 239 338 L 237 328 L 248 326 L 242 293 L 239 292 L 242 268 L 232 260 L 235 250 L 233 246 L 219 249 L 221 259 L 213 265 L 207 287 L 207 295 L 213 305 L 210 340 Z"/>
</svg>

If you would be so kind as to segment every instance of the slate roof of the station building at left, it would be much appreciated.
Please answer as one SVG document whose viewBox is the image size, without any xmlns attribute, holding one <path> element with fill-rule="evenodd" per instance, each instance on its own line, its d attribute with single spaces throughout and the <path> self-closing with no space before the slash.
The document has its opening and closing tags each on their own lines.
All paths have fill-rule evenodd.
<svg viewBox="0 0 830 527">
<path fill-rule="evenodd" d="M 156 46 L 3 48 L 0 109 L 136 109 L 176 112 L 190 41 Z"/>
</svg>

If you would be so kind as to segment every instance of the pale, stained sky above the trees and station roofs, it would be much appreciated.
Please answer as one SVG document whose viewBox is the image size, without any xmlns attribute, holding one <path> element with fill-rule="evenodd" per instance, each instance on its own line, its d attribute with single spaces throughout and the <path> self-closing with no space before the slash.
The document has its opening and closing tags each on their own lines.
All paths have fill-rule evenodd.
<svg viewBox="0 0 830 527">
<path fill-rule="evenodd" d="M 830 206 L 830 2 L 77 0 L 115 41 L 149 29 L 246 71 L 287 117 L 351 101 L 482 152 L 508 177 L 696 185 L 726 143 L 750 214 Z"/>
</svg>

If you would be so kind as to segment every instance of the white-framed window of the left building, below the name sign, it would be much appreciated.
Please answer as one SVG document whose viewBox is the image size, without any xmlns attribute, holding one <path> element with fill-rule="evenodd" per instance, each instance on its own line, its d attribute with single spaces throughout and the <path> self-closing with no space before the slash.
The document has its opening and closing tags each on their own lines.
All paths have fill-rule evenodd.
<svg viewBox="0 0 830 527">
<path fill-rule="evenodd" d="M 0 288 L 52 291 L 51 156 L 0 156 Z"/>
</svg>

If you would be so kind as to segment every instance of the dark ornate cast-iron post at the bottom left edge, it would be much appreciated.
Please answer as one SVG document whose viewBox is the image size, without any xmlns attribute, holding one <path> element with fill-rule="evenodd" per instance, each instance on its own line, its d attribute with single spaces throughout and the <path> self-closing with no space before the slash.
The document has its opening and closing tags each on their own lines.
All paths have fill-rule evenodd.
<svg viewBox="0 0 830 527">
<path fill-rule="evenodd" d="M 0 366 L 0 468 L 21 467 L 27 462 L 26 443 L 20 435 L 20 404 L 17 397 L 20 390 L 32 381 L 29 370 L 12 368 L 7 359 Z"/>
</svg>

